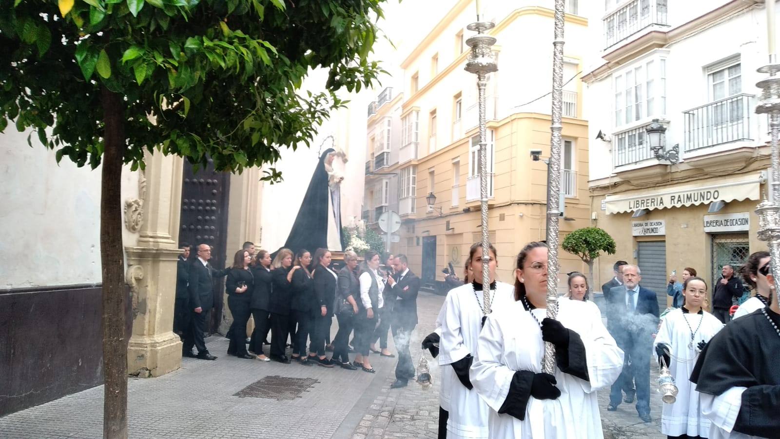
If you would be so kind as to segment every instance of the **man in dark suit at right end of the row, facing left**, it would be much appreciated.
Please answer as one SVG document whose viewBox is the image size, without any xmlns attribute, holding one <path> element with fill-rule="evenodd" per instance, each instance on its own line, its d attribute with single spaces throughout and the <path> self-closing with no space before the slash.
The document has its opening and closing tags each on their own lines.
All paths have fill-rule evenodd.
<svg viewBox="0 0 780 439">
<path fill-rule="evenodd" d="M 395 301 L 392 311 L 392 339 L 398 350 L 398 366 L 395 366 L 395 382 L 392 388 L 406 387 L 414 378 L 414 363 L 409 352 L 409 342 L 414 327 L 417 326 L 417 293 L 420 291 L 420 278 L 409 269 L 406 255 L 397 255 L 393 259 L 395 275 L 388 277 L 388 287 L 392 293 L 388 298 Z M 385 290 L 388 288 L 385 287 Z M 398 298 L 395 300 L 395 298 Z"/>
</svg>

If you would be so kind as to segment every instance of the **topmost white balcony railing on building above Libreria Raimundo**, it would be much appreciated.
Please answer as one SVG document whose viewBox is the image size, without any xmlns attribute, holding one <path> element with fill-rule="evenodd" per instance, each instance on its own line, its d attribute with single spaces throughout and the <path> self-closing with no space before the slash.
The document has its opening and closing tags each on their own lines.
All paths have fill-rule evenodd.
<svg viewBox="0 0 780 439">
<path fill-rule="evenodd" d="M 666 25 L 667 0 L 634 0 L 604 19 L 606 47 L 653 24 Z"/>
</svg>

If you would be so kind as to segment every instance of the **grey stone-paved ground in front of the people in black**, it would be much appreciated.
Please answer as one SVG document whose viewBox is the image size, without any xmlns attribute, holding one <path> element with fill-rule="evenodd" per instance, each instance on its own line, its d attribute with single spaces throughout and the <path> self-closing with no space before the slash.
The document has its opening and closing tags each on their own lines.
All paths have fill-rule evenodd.
<svg viewBox="0 0 780 439">
<path fill-rule="evenodd" d="M 412 337 L 415 365 L 420 341 L 434 329 L 444 298 L 420 294 L 420 324 Z M 334 323 L 333 329 L 336 329 Z M 417 383 L 390 389 L 396 359 L 372 356 L 376 374 L 341 368 L 262 363 L 225 355 L 228 341 L 207 340 L 215 362 L 184 359 L 182 369 L 164 377 L 129 381 L 129 435 L 139 439 L 183 438 L 321 438 L 378 439 L 436 437 L 440 373 L 431 365 L 434 386 Z M 395 353 L 390 337 L 390 350 Z M 428 356 L 430 364 L 430 356 Z M 657 371 L 654 371 L 657 373 Z M 282 377 L 282 378 L 279 378 Z M 291 380 L 285 384 L 286 378 Z M 305 380 L 305 379 L 310 380 Z M 264 398 L 258 380 L 275 380 L 282 396 Z M 281 381 L 280 381 L 281 380 Z M 273 385 L 274 383 L 271 383 Z M 654 389 L 654 377 L 651 377 Z M 605 437 L 663 437 L 659 431 L 661 399 L 651 395 L 654 422 L 645 424 L 633 406 L 606 412 L 608 392 L 599 394 Z M 0 418 L 0 437 L 100 438 L 102 387 Z"/>
</svg>

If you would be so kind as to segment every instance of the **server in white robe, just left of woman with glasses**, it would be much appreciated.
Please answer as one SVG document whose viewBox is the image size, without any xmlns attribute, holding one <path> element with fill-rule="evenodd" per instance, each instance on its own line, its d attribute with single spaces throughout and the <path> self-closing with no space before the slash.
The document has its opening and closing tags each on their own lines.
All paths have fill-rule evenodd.
<svg viewBox="0 0 780 439">
<path fill-rule="evenodd" d="M 492 245 L 490 248 L 491 309 L 495 310 L 512 303 L 514 288 L 495 281 L 498 262 L 495 248 Z M 438 362 L 442 366 L 441 394 L 449 395 L 448 402 L 441 402 L 442 408 L 449 411 L 448 439 L 488 437 L 490 409 L 473 390 L 469 377 L 484 321 L 482 284 L 477 283 L 482 279 L 481 244 L 471 246 L 468 262 L 473 281 L 449 291 L 442 309 Z M 452 370 L 445 372 L 448 368 Z"/>
</svg>

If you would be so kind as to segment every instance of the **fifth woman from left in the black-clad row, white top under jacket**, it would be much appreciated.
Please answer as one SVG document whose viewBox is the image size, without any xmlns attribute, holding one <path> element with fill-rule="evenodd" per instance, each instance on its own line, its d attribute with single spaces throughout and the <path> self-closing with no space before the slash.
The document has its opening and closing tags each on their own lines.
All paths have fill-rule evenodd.
<svg viewBox="0 0 780 439">
<path fill-rule="evenodd" d="M 327 248 L 317 248 L 314 252 L 314 294 L 319 309 L 314 320 L 314 335 L 311 337 L 309 359 L 319 366 L 333 367 L 333 362 L 325 356 L 325 336 L 330 330 L 333 318 L 333 302 L 336 296 L 338 275 L 328 266 L 331 265 L 331 252 Z"/>
</svg>

